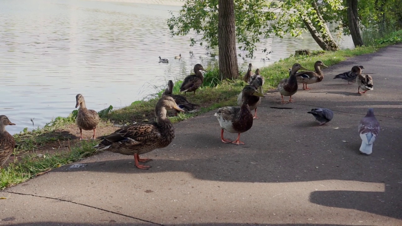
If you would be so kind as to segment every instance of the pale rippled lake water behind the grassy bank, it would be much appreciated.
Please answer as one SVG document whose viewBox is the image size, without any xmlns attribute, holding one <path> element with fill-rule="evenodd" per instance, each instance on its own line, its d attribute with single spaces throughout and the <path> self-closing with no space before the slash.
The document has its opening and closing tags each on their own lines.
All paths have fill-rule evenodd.
<svg viewBox="0 0 402 226">
<path fill-rule="evenodd" d="M 207 67 L 215 58 L 190 37 L 171 37 L 166 19 L 179 6 L 85 0 L 0 1 L 0 114 L 15 126 L 43 126 L 67 116 L 81 93 L 96 111 L 124 107 L 190 74 L 195 64 Z M 353 48 L 350 37 L 341 46 Z M 240 66 L 254 68 L 286 58 L 296 49 L 320 49 L 310 35 L 304 39 L 271 38 Z M 193 51 L 193 55 L 189 53 Z M 174 56 L 182 54 L 181 60 Z M 243 53 L 244 55 L 244 53 Z M 158 57 L 168 64 L 158 63 Z M 262 61 L 268 57 L 270 60 Z"/>
</svg>

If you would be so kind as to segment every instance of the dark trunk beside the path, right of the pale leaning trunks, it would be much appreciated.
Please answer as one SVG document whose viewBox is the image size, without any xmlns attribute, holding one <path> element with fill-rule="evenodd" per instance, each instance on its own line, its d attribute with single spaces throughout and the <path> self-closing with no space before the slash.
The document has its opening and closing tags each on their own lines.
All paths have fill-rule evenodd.
<svg viewBox="0 0 402 226">
<path fill-rule="evenodd" d="M 364 45 L 359 30 L 359 20 L 357 17 L 357 0 L 346 0 L 349 31 L 351 32 L 355 47 Z"/>
</svg>

